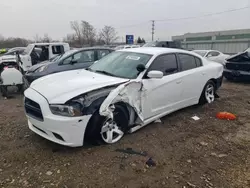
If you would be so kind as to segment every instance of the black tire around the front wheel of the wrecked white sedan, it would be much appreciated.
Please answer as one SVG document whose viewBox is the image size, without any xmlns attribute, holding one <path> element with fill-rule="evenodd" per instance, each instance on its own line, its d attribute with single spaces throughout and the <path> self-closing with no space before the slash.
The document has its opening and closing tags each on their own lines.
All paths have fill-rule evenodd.
<svg viewBox="0 0 250 188">
<path fill-rule="evenodd" d="M 114 121 L 117 123 L 120 130 L 125 134 L 129 123 L 129 115 L 127 109 L 123 105 L 116 104 L 113 113 Z M 108 144 L 103 140 L 101 135 L 102 127 L 106 121 L 107 118 L 100 116 L 98 109 L 92 115 L 88 123 L 87 129 L 85 131 L 85 140 L 95 145 Z"/>
</svg>

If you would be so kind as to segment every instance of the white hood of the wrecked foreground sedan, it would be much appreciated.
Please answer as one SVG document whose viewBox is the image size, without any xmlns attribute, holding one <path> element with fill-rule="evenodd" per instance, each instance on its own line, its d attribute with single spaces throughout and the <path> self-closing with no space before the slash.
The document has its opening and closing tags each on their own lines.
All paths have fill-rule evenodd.
<svg viewBox="0 0 250 188">
<path fill-rule="evenodd" d="M 42 77 L 32 82 L 30 88 L 43 95 L 50 104 L 64 104 L 86 92 L 127 81 L 129 79 L 107 76 L 83 69 Z"/>
</svg>

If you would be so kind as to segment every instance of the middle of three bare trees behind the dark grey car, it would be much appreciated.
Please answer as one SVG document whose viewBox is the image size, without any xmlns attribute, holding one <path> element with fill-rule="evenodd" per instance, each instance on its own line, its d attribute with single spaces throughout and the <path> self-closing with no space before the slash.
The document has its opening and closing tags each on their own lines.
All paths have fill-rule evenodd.
<svg viewBox="0 0 250 188">
<path fill-rule="evenodd" d="M 82 36 L 84 39 L 84 43 L 92 46 L 95 43 L 96 30 L 93 25 L 89 22 L 82 21 Z"/>
</svg>

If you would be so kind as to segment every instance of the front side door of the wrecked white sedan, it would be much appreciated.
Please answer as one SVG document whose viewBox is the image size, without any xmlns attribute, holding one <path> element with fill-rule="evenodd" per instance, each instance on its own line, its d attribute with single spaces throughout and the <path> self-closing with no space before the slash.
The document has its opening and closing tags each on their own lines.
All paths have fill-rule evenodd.
<svg viewBox="0 0 250 188">
<path fill-rule="evenodd" d="M 146 75 L 152 70 L 162 71 L 163 78 L 148 78 Z M 179 109 L 179 103 L 182 100 L 181 74 L 175 54 L 161 55 L 153 61 L 142 79 L 145 89 L 145 94 L 142 97 L 145 119 Z"/>
</svg>

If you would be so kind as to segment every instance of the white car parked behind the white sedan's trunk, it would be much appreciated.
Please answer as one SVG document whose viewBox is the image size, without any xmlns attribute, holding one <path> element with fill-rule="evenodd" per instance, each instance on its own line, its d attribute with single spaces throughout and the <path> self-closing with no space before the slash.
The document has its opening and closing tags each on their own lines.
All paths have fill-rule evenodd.
<svg viewBox="0 0 250 188">
<path fill-rule="evenodd" d="M 209 60 L 215 61 L 217 63 L 220 63 L 222 65 L 225 64 L 226 58 L 228 58 L 230 55 L 223 54 L 222 52 L 219 52 L 217 50 L 193 50 L 193 52 L 201 55 L 202 57 L 205 57 Z"/>
</svg>

